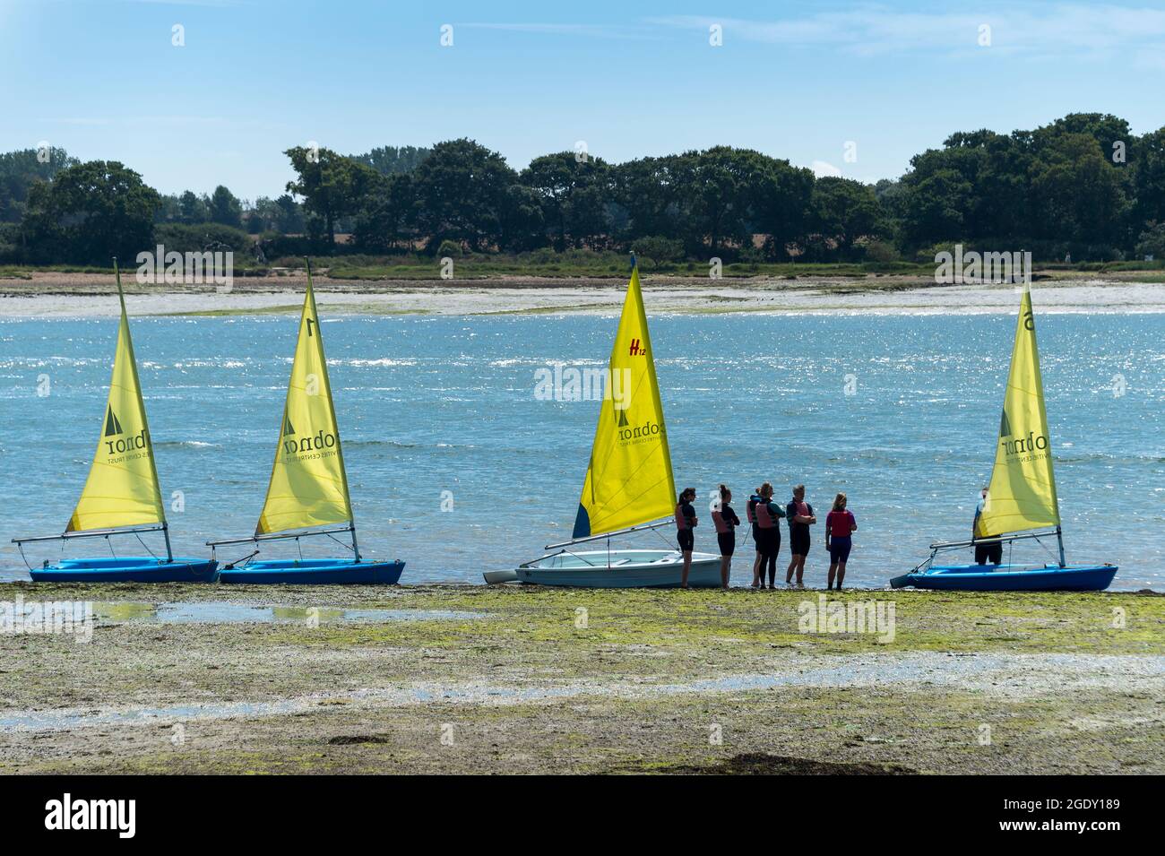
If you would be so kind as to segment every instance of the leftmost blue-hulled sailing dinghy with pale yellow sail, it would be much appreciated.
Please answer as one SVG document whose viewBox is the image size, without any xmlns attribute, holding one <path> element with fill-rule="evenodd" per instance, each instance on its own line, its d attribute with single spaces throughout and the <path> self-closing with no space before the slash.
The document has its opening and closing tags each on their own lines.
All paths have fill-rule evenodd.
<svg viewBox="0 0 1165 856">
<path fill-rule="evenodd" d="M 13 538 L 24 553 L 31 542 L 71 540 L 134 535 L 141 542 L 144 532 L 161 532 L 165 539 L 165 559 L 156 556 L 113 556 L 108 559 L 62 559 L 41 567 L 29 566 L 36 582 L 210 582 L 214 579 L 214 561 L 176 559 L 170 550 L 170 530 L 162 507 L 162 490 L 154 465 L 154 443 L 146 423 L 146 404 L 137 382 L 137 362 L 129 337 L 126 296 L 121 290 L 121 271 L 113 260 L 121 302 L 121 323 L 113 358 L 110 397 L 101 419 L 97 452 L 89 477 L 77 501 L 77 508 L 62 535 Z M 113 551 L 113 544 L 110 543 Z M 147 547 L 148 550 L 148 547 Z"/>
</svg>

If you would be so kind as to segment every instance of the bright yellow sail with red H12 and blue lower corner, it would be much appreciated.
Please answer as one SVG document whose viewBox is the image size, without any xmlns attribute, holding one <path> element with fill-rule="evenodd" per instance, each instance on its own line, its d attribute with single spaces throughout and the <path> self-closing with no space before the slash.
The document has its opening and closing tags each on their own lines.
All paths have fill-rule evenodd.
<svg viewBox="0 0 1165 856">
<path fill-rule="evenodd" d="M 635 526 L 676 509 L 676 482 L 638 268 L 631 270 L 609 368 L 574 538 Z"/>
</svg>

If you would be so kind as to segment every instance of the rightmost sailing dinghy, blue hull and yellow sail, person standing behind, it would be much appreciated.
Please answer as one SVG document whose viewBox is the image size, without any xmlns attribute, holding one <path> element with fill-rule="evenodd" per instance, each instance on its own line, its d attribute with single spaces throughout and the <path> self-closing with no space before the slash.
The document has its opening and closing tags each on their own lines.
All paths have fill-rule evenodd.
<svg viewBox="0 0 1165 856">
<path fill-rule="evenodd" d="M 935 565 L 940 552 L 980 544 L 1055 537 L 1059 561 L 1045 565 Z M 931 557 L 911 573 L 890 580 L 894 588 L 972 592 L 1100 592 L 1116 575 L 1115 565 L 1067 565 L 1060 505 L 1052 469 L 1052 445 L 1044 409 L 1044 380 L 1036 347 L 1031 284 L 1024 283 L 1011 351 L 1011 370 L 1000 417 L 995 468 L 982 514 L 969 542 L 932 544 Z"/>
</svg>

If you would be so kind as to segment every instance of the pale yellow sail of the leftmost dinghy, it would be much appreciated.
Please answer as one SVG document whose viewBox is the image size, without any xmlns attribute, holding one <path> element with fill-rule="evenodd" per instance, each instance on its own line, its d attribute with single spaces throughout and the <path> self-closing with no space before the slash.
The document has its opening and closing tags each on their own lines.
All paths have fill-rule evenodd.
<svg viewBox="0 0 1165 856">
<path fill-rule="evenodd" d="M 101 434 L 97 440 L 93 465 L 66 532 L 165 523 L 120 270 L 116 270 L 116 276 L 121 324 L 118 327 L 110 398 L 101 417 Z"/>
</svg>

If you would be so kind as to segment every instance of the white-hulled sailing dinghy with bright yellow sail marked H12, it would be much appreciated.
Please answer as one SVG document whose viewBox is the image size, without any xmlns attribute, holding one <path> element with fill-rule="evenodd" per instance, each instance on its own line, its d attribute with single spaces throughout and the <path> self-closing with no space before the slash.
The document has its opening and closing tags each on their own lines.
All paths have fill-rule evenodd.
<svg viewBox="0 0 1165 856">
<path fill-rule="evenodd" d="M 615 384 L 626 392 L 617 398 L 612 395 Z M 610 539 L 616 536 L 675 525 L 676 500 L 651 335 L 643 309 L 640 271 L 633 262 L 573 536 L 563 544 L 548 545 L 546 550 L 555 552 L 514 571 L 486 573 L 486 582 L 588 588 L 679 586 L 684 558 L 677 547 L 626 550 L 610 546 Z M 659 521 L 661 517 L 666 519 Z M 711 532 L 712 528 L 708 530 Z M 598 540 L 606 540 L 607 547 L 574 549 Z M 719 587 L 720 557 L 693 552 L 687 585 Z"/>
</svg>

